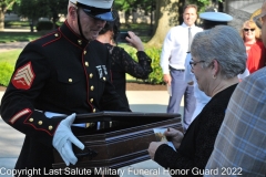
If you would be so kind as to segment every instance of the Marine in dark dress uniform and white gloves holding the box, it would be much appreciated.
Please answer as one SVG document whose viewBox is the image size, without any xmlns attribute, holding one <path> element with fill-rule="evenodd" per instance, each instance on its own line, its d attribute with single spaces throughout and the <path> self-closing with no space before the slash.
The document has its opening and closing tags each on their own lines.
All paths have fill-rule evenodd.
<svg viewBox="0 0 266 177">
<path fill-rule="evenodd" d="M 76 164 L 72 144 L 80 149 L 84 145 L 75 135 L 96 125 L 72 126 L 75 114 L 130 111 L 111 84 L 108 49 L 91 43 L 114 20 L 112 3 L 70 0 L 65 22 L 19 55 L 0 110 L 7 124 L 25 134 L 14 169 L 40 169 L 44 176 L 53 169 L 54 148 L 66 166 Z"/>
</svg>

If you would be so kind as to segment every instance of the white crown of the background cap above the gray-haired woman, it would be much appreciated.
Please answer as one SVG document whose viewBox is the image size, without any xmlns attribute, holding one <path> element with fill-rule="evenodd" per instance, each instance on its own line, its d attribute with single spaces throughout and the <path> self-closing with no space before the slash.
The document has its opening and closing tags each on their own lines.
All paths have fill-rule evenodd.
<svg viewBox="0 0 266 177">
<path fill-rule="evenodd" d="M 233 17 L 223 12 L 203 12 L 200 13 L 200 18 L 208 21 L 228 22 L 233 20 Z"/>
</svg>

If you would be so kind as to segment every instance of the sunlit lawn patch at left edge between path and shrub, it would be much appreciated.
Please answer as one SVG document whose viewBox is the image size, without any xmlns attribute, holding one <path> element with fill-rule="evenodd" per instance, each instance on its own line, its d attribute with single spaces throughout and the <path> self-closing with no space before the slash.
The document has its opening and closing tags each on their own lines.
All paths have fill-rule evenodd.
<svg viewBox="0 0 266 177">
<path fill-rule="evenodd" d="M 7 52 L 0 52 L 0 62 L 7 62 L 14 66 L 21 51 L 21 49 L 17 49 Z"/>
</svg>

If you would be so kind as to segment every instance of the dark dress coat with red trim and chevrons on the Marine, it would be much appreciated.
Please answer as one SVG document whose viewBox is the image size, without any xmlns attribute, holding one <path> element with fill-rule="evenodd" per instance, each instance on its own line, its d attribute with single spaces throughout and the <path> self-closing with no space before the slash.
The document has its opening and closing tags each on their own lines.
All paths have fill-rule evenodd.
<svg viewBox="0 0 266 177">
<path fill-rule="evenodd" d="M 24 48 L 1 102 L 2 118 L 25 134 L 17 169 L 52 168 L 60 119 L 42 111 L 129 111 L 111 84 L 109 58 L 106 46 L 76 35 L 66 22 Z"/>
</svg>

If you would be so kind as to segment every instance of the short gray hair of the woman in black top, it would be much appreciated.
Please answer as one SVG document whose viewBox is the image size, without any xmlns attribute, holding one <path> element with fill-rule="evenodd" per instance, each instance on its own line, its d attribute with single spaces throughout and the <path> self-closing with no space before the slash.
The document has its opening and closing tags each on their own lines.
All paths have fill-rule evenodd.
<svg viewBox="0 0 266 177">
<path fill-rule="evenodd" d="M 232 79 L 246 69 L 246 48 L 239 33 L 232 27 L 217 25 L 195 34 L 192 56 L 201 61 L 203 67 L 217 60 L 224 79 Z"/>
</svg>

